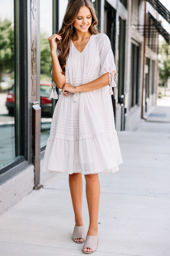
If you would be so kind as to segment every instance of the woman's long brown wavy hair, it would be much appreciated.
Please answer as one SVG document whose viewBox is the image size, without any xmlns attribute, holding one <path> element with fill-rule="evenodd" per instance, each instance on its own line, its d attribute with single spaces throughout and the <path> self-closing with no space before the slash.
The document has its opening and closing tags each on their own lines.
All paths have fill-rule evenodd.
<svg viewBox="0 0 170 256">
<path fill-rule="evenodd" d="M 58 60 L 62 69 L 62 74 L 65 74 L 65 65 L 70 51 L 70 42 L 74 36 L 75 28 L 71 24 L 75 21 L 78 12 L 82 6 L 86 6 L 90 9 L 92 15 L 92 24 L 89 31 L 92 35 L 99 34 L 97 30 L 97 17 L 95 9 L 90 0 L 70 0 L 63 18 L 63 23 L 58 31 L 58 35 L 61 36 L 61 40 L 57 42 L 57 49 L 60 51 Z"/>
</svg>

